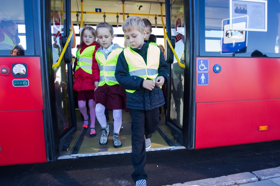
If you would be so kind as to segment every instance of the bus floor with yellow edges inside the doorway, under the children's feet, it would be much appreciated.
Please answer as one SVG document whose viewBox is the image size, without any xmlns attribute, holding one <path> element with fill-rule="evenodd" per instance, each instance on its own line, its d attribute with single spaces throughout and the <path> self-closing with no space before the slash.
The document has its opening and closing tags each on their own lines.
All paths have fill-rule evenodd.
<svg viewBox="0 0 280 186">
<path fill-rule="evenodd" d="M 163 108 L 162 108 L 163 111 Z M 99 145 L 99 139 L 101 136 L 100 124 L 97 119 L 95 120 L 96 136 L 90 137 L 90 130 L 83 129 L 83 121 L 80 117 L 79 110 L 76 111 L 77 118 L 77 131 L 73 134 L 69 149 L 61 152 L 59 159 L 71 158 L 71 157 L 83 157 L 83 156 L 94 156 L 94 155 L 109 155 L 109 154 L 120 154 L 131 152 L 131 117 L 129 112 L 122 110 L 122 128 L 119 132 L 121 136 L 120 141 L 122 147 L 113 147 L 113 116 L 112 111 L 109 110 L 109 131 L 108 144 L 105 146 Z M 151 137 L 152 146 L 147 151 L 154 150 L 168 150 L 178 146 L 181 146 L 179 142 L 175 142 L 170 129 L 165 125 L 165 113 L 161 112 L 161 120 L 158 124 L 156 131 Z"/>
</svg>

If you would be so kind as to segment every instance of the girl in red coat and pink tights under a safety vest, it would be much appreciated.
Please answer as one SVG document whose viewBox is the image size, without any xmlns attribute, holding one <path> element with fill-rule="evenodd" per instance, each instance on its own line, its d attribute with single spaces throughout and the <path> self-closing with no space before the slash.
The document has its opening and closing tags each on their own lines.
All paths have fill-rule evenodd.
<svg viewBox="0 0 280 186">
<path fill-rule="evenodd" d="M 95 134 L 95 99 L 94 90 L 99 83 L 99 67 L 95 59 L 95 52 L 99 48 L 96 40 L 96 31 L 90 26 L 80 29 L 81 42 L 76 53 L 74 65 L 74 85 L 73 89 L 78 91 L 77 101 L 80 112 L 84 117 L 83 128 L 88 129 L 88 114 L 86 101 L 88 101 L 91 125 L 90 136 Z"/>
</svg>

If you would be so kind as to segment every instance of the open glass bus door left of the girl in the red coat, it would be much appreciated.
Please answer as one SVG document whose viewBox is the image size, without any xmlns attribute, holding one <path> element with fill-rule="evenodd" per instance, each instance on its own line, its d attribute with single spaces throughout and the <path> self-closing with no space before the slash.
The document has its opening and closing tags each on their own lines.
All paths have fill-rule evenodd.
<svg viewBox="0 0 280 186">
<path fill-rule="evenodd" d="M 52 156 L 58 158 L 68 150 L 72 134 L 76 129 L 74 96 L 72 90 L 71 42 L 63 47 L 70 35 L 70 1 L 51 0 L 46 5 L 46 47 L 49 68 L 49 96 L 51 120 L 49 128 L 53 139 Z M 61 61 L 60 61 L 61 58 Z"/>
</svg>

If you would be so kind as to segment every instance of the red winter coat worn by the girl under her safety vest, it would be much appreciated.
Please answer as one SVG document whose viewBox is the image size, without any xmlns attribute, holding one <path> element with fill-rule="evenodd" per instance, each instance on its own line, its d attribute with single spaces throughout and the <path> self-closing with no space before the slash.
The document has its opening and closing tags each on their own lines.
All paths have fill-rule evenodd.
<svg viewBox="0 0 280 186">
<path fill-rule="evenodd" d="M 92 56 L 92 74 L 88 74 L 87 72 L 83 71 L 83 69 L 79 68 L 77 71 L 75 71 L 76 66 L 77 66 L 77 58 L 74 62 L 74 85 L 73 89 L 77 91 L 83 91 L 83 90 L 94 90 L 94 82 L 99 81 L 99 67 L 98 63 L 95 59 L 95 53 L 97 49 L 100 47 L 97 45 L 97 42 L 93 42 L 90 45 L 86 45 L 84 42 L 82 42 L 82 48 L 80 50 L 80 54 L 83 52 L 83 50 L 86 47 L 96 45 L 94 49 L 94 53 Z"/>
</svg>

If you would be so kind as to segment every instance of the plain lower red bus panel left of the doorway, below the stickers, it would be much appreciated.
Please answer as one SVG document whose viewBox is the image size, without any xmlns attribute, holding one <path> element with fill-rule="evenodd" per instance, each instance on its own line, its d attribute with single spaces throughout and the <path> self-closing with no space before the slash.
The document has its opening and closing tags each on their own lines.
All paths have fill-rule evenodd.
<svg viewBox="0 0 280 186">
<path fill-rule="evenodd" d="M 0 165 L 46 162 L 42 110 L 0 112 Z"/>
</svg>

